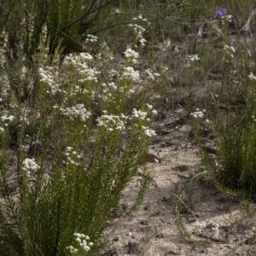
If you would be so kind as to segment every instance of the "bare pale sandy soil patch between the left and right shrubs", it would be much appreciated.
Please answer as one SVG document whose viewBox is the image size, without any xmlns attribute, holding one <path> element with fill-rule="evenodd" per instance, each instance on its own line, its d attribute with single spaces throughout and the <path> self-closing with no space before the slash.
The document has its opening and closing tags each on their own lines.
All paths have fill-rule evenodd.
<svg viewBox="0 0 256 256">
<path fill-rule="evenodd" d="M 188 122 L 169 131 L 155 138 L 150 147 L 149 152 L 159 154 L 161 161 L 148 163 L 155 183 L 150 185 L 143 205 L 133 216 L 123 218 L 119 214 L 113 220 L 117 225 L 107 230 L 107 244 L 101 255 L 256 255 L 254 218 L 248 218 L 241 203 L 222 195 L 210 182 L 190 187 L 183 221 L 195 239 L 211 244 L 191 243 L 179 236 L 174 207 L 183 184 L 201 167 L 201 159 Z M 214 146 L 211 133 L 205 142 Z M 135 200 L 137 179 L 124 191 L 124 211 Z"/>
</svg>

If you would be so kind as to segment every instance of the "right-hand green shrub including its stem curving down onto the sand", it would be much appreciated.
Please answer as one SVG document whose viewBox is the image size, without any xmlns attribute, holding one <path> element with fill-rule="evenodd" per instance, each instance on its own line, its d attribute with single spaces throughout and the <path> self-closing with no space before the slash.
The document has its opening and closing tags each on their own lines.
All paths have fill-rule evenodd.
<svg viewBox="0 0 256 256">
<path fill-rule="evenodd" d="M 181 210 L 191 183 L 204 177 L 203 182 L 212 182 L 224 195 L 241 201 L 253 200 L 256 193 L 256 77 L 250 64 L 252 53 L 249 47 L 239 49 L 239 40 L 236 44 L 230 40 L 230 17 L 224 16 L 221 19 L 222 26 L 208 22 L 223 45 L 222 49 L 214 52 L 215 60 L 212 60 L 218 65 L 218 73 L 221 74 L 220 79 L 214 83 L 215 88 L 207 90 L 212 104 L 208 102 L 207 111 L 197 108 L 190 113 L 202 167 L 184 185 L 175 207 L 176 223 L 181 236 L 195 242 L 206 241 L 196 240 L 195 237 L 192 239 L 183 223 Z M 203 55 L 200 57 L 204 58 Z M 202 62 L 198 65 L 199 69 L 201 65 Z M 194 81 L 194 73 L 190 75 L 190 81 Z M 193 90 L 193 86 L 190 87 Z M 208 127 L 212 127 L 210 129 L 216 147 L 210 148 L 212 150 L 204 145 Z"/>
</svg>

